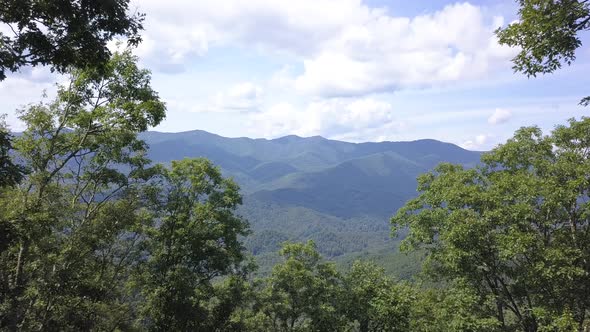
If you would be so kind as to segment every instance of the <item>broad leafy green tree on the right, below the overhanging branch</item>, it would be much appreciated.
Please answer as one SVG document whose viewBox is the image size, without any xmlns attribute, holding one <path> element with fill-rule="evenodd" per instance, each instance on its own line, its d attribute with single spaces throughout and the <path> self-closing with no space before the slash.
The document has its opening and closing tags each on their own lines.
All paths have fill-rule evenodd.
<svg viewBox="0 0 590 332">
<path fill-rule="evenodd" d="M 493 303 L 502 330 L 579 330 L 590 309 L 590 119 L 522 128 L 464 169 L 441 164 L 392 219 L 430 275 Z M 483 308 L 483 307 L 482 307 Z M 483 308 L 485 309 L 485 308 Z M 482 309 L 482 310 L 483 310 Z M 488 308 L 489 309 L 489 308 Z"/>
</svg>

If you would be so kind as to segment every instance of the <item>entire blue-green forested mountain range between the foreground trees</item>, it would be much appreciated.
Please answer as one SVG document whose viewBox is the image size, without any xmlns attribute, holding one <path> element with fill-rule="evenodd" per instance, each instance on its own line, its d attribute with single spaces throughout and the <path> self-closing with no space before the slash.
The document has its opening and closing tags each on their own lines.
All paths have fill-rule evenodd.
<svg viewBox="0 0 590 332">
<path fill-rule="evenodd" d="M 417 176 L 440 162 L 472 167 L 481 155 L 430 139 L 349 143 L 285 136 L 269 140 L 227 138 L 200 130 L 146 132 L 142 138 L 154 162 L 205 157 L 234 178 L 244 196 L 238 212 L 252 228 L 245 244 L 263 272 L 287 240 L 312 239 L 324 256 L 337 262 L 383 254 L 404 261 L 388 254 L 396 252 L 397 244 L 389 236 L 389 218 L 417 194 Z"/>
</svg>

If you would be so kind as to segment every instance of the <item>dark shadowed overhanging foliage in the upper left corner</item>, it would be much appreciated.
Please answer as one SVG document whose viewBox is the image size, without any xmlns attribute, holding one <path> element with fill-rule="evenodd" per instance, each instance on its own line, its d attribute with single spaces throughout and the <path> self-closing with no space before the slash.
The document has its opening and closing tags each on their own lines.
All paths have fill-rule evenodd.
<svg viewBox="0 0 590 332">
<path fill-rule="evenodd" d="M 26 65 L 103 68 L 114 37 L 141 40 L 143 15 L 129 10 L 129 0 L 1 0 L 0 22 L 12 34 L 0 33 L 0 81 Z"/>
</svg>

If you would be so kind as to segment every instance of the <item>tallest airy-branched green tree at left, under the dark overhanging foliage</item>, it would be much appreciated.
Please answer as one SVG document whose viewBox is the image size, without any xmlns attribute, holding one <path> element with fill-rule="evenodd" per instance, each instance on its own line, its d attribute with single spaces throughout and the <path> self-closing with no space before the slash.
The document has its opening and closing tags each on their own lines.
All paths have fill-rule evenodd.
<svg viewBox="0 0 590 332">
<path fill-rule="evenodd" d="M 0 252 L 0 328 L 124 326 L 126 281 L 153 221 L 143 186 L 157 171 L 137 133 L 164 115 L 129 51 L 102 73 L 73 70 L 54 101 L 22 110 L 14 145 L 28 174 L 0 191 L 14 235 Z"/>
</svg>

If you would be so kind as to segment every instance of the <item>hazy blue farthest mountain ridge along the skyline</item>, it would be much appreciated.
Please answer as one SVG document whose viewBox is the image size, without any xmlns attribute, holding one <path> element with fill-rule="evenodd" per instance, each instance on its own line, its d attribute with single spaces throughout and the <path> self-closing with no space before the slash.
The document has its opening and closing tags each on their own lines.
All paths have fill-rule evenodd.
<svg viewBox="0 0 590 332">
<path fill-rule="evenodd" d="M 266 171 L 287 175 L 292 172 L 320 171 L 340 163 L 388 153 L 417 167 L 432 168 L 442 161 L 473 164 L 479 152 L 432 139 L 410 142 L 349 143 L 321 136 L 295 135 L 276 139 L 226 138 L 202 130 L 180 133 L 146 132 L 141 135 L 150 145 L 154 161 L 167 162 L 183 157 L 204 156 L 228 173 L 244 173 L 251 180 L 265 183 Z M 171 149 L 172 148 L 172 149 Z M 261 168 L 264 171 L 261 171 Z M 235 174 L 234 174 L 235 175 Z M 250 191 L 246 184 L 244 189 Z"/>
</svg>

